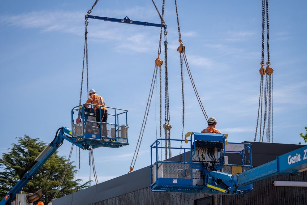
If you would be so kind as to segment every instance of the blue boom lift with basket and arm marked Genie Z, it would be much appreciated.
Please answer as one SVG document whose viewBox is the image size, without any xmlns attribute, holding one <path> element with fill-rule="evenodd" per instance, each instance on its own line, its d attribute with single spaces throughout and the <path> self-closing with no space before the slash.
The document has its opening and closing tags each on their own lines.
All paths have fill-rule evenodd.
<svg viewBox="0 0 307 205">
<path fill-rule="evenodd" d="M 251 144 L 227 143 L 227 135 L 223 134 L 189 134 L 191 140 L 186 139 L 187 134 L 184 140 L 157 139 L 150 146 L 151 191 L 241 195 L 253 190 L 254 182 L 278 174 L 300 174 L 307 170 L 307 146 L 253 168 Z M 171 147 L 184 151 L 183 161 L 159 161 L 158 149 L 169 148 L 162 146 L 162 140 L 190 142 L 190 148 Z M 243 148 L 227 150 L 227 144 Z M 186 151 L 191 154 L 188 161 Z M 240 154 L 241 164 L 228 164 L 226 152 Z"/>
</svg>

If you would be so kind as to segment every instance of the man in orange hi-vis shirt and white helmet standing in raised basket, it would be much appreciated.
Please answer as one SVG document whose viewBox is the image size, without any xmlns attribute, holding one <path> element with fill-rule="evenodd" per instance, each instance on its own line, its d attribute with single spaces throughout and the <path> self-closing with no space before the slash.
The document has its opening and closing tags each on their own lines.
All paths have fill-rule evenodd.
<svg viewBox="0 0 307 205">
<path fill-rule="evenodd" d="M 89 99 L 86 101 L 86 104 L 93 103 L 94 105 L 99 105 L 99 106 L 106 106 L 105 100 L 102 98 L 102 96 L 99 96 L 96 94 L 95 90 L 90 90 L 89 91 Z M 89 105 L 84 105 L 84 107 L 88 107 Z M 102 123 L 102 136 L 107 137 L 108 136 L 108 129 L 106 127 L 106 120 L 108 119 L 108 109 L 106 107 L 98 107 L 94 106 L 94 110 L 96 113 L 96 122 L 97 125 L 100 128 L 99 122 L 105 122 Z M 100 121 L 100 116 L 101 116 L 101 121 Z"/>
</svg>

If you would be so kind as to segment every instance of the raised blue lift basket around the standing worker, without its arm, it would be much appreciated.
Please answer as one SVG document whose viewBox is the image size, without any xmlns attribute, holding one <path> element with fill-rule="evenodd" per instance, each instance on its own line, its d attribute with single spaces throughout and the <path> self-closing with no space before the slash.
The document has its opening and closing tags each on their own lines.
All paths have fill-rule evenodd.
<svg viewBox="0 0 307 205">
<path fill-rule="evenodd" d="M 89 146 L 117 148 L 129 144 L 128 110 L 95 105 L 96 109 L 100 107 L 108 109 L 108 122 L 101 122 L 101 120 L 96 122 L 94 108 L 84 107 L 84 105 L 76 106 L 71 110 L 72 143 L 84 148 Z M 102 117 L 100 116 L 100 119 Z"/>
</svg>

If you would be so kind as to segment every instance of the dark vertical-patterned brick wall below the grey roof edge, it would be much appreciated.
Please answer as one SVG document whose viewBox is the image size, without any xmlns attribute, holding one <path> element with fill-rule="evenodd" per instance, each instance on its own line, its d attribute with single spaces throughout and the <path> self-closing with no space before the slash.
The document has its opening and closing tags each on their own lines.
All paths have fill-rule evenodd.
<svg viewBox="0 0 307 205">
<path fill-rule="evenodd" d="M 254 190 L 242 196 L 214 195 L 215 205 L 303 205 L 307 204 L 307 187 L 275 187 L 273 181 L 307 181 L 307 172 L 301 175 L 278 175 L 254 183 Z M 194 204 L 194 200 L 209 194 L 184 194 L 152 192 L 149 187 L 123 194 L 91 205 L 130 205 L 130 204 Z"/>
</svg>

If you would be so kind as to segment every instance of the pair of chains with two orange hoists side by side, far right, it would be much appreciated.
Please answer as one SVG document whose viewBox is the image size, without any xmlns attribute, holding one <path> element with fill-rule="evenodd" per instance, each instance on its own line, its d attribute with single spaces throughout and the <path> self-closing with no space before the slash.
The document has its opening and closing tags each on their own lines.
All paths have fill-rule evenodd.
<svg viewBox="0 0 307 205">
<path fill-rule="evenodd" d="M 267 32 L 267 58 L 266 68 L 264 64 L 264 44 L 265 44 L 265 14 L 266 14 L 266 32 Z M 256 132 L 254 142 L 257 139 L 258 124 L 260 124 L 259 142 L 263 142 L 264 131 L 266 130 L 266 141 L 271 142 L 271 125 L 273 122 L 273 69 L 270 67 L 270 38 L 269 38 L 269 2 L 262 0 L 262 47 L 261 47 L 261 68 L 260 73 L 260 90 L 259 90 L 259 104 L 258 115 L 256 123 Z M 264 94 L 263 94 L 264 92 Z M 262 124 L 262 110 L 263 110 L 263 95 L 264 95 L 264 113 Z M 259 122 L 260 115 L 260 122 Z M 263 127 L 262 127 L 263 126 Z M 262 135 L 262 137 L 261 137 Z M 273 131 L 272 131 L 273 140 Z"/>
</svg>

